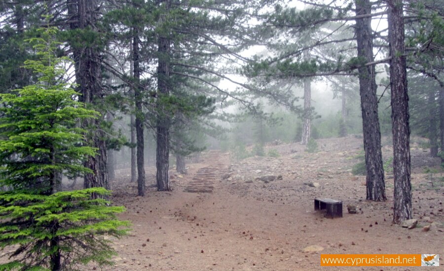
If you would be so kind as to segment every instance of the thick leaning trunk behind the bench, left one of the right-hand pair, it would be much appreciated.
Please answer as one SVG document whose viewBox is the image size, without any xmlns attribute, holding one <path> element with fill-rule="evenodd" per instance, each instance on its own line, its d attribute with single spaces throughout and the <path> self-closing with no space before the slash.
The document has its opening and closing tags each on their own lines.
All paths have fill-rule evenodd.
<svg viewBox="0 0 444 271">
<path fill-rule="evenodd" d="M 371 13 L 370 0 L 356 1 L 356 15 Z M 371 17 L 356 20 L 358 57 L 366 63 L 373 61 Z M 374 66 L 359 68 L 359 94 L 361 96 L 364 151 L 366 158 L 367 200 L 385 201 L 384 169 L 381 153 L 378 104 Z"/>
</svg>

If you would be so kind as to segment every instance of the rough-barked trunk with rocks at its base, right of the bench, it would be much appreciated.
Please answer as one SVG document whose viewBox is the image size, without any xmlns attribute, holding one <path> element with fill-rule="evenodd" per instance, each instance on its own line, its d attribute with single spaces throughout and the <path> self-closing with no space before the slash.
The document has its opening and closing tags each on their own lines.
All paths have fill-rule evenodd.
<svg viewBox="0 0 444 271">
<path fill-rule="evenodd" d="M 408 126 L 407 69 L 404 55 L 403 1 L 387 0 L 388 34 L 390 42 L 390 87 L 392 92 L 393 177 L 394 209 L 393 222 L 410 219 L 410 128 Z"/>
</svg>

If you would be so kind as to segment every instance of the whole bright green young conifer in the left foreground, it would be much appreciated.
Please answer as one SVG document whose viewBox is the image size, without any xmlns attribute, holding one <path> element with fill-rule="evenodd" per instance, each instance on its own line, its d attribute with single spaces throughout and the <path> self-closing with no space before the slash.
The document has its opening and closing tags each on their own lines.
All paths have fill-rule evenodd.
<svg viewBox="0 0 444 271">
<path fill-rule="evenodd" d="M 110 206 L 104 188 L 56 192 L 57 174 L 88 174 L 82 166 L 96 149 L 87 146 L 77 128 L 97 112 L 84 108 L 78 94 L 64 81 L 68 58 L 54 56 L 56 29 L 40 30 L 32 38 L 37 60 L 25 62 L 38 82 L 0 95 L 0 247 L 12 246 L 12 261 L 0 270 L 80 270 L 94 261 L 110 265 L 115 255 L 104 235 L 121 237 L 128 222 L 115 214 L 124 207 Z M 123 227 L 123 229 L 122 229 Z"/>
</svg>

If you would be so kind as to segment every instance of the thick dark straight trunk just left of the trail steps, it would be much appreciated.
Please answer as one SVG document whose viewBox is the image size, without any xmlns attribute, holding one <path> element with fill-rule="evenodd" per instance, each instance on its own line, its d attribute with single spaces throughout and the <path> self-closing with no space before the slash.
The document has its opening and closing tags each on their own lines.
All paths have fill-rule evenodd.
<svg viewBox="0 0 444 271">
<path fill-rule="evenodd" d="M 162 107 L 165 97 L 170 94 L 170 40 L 160 36 L 158 40 L 158 68 L 157 68 L 157 128 L 156 128 L 156 181 L 158 191 L 170 191 L 168 176 L 170 156 L 170 116 Z"/>
</svg>

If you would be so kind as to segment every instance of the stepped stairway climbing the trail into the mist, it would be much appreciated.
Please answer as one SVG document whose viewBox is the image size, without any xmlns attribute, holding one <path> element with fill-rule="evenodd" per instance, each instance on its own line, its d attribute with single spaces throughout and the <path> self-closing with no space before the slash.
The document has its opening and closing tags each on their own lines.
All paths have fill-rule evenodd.
<svg viewBox="0 0 444 271">
<path fill-rule="evenodd" d="M 225 157 L 218 150 L 209 151 L 209 157 L 206 162 L 207 167 L 198 169 L 192 181 L 185 187 L 185 192 L 189 193 L 213 193 L 216 179 L 224 166 Z"/>
</svg>

